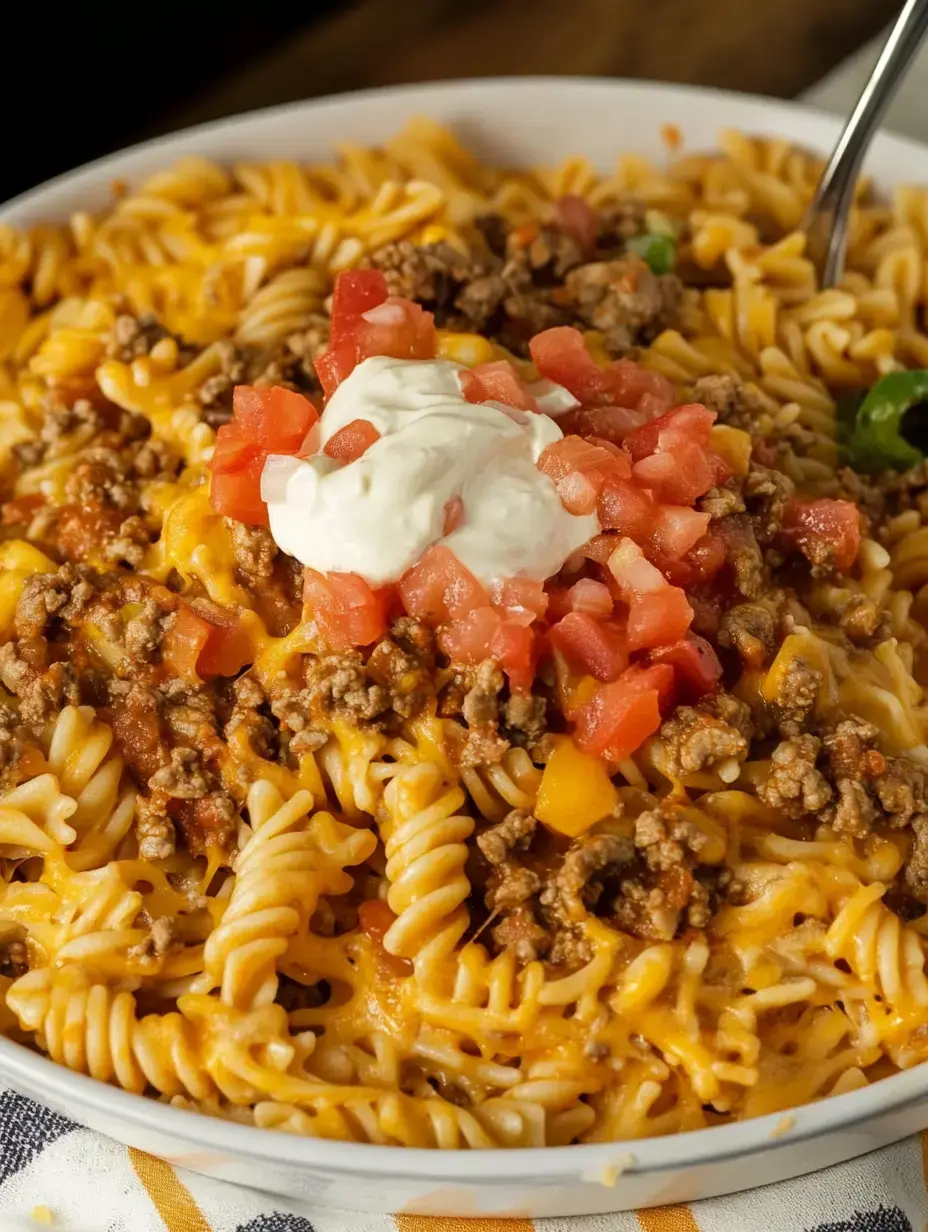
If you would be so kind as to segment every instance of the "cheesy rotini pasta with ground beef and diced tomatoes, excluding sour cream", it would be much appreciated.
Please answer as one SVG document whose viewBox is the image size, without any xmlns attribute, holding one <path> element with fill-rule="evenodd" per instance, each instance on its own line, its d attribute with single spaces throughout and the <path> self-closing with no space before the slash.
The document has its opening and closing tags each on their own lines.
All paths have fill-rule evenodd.
<svg viewBox="0 0 928 1232">
<path fill-rule="evenodd" d="M 928 1060 L 928 190 L 861 182 L 821 290 L 818 171 L 737 132 L 500 169 L 419 120 L 0 227 L 5 1035 L 455 1149 Z M 455 493 L 387 582 L 285 552 L 267 456 L 376 450 L 318 405 L 383 357 L 510 439 L 547 408 L 531 476 L 598 532 L 482 579 L 433 554 Z"/>
</svg>

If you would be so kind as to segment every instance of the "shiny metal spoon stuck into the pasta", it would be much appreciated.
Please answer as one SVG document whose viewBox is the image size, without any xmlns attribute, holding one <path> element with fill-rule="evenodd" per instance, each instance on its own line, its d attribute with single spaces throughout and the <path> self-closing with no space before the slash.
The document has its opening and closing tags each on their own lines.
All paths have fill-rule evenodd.
<svg viewBox="0 0 928 1232">
<path fill-rule="evenodd" d="M 854 184 L 880 120 L 926 31 L 928 0 L 906 0 L 818 181 L 804 230 L 806 255 L 815 265 L 821 287 L 833 287 L 844 272 Z"/>
</svg>

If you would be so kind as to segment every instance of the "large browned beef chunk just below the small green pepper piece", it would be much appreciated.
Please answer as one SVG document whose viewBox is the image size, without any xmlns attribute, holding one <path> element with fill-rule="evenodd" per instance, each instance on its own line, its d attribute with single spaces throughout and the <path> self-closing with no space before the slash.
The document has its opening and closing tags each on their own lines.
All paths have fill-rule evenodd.
<svg viewBox="0 0 928 1232">
<path fill-rule="evenodd" d="M 610 354 L 624 355 L 677 323 L 682 296 L 675 274 L 652 274 L 643 261 L 630 257 L 572 270 L 563 299 L 580 320 L 601 331 Z"/>
</svg>

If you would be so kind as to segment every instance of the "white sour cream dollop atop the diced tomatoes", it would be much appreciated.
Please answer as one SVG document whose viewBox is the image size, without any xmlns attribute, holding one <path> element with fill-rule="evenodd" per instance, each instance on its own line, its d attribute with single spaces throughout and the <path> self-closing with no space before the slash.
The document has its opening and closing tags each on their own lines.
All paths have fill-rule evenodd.
<svg viewBox="0 0 928 1232">
<path fill-rule="evenodd" d="M 535 464 L 563 434 L 550 415 L 467 402 L 460 371 L 447 360 L 359 363 L 325 407 L 319 448 L 355 419 L 373 424 L 380 440 L 349 463 L 322 452 L 267 458 L 261 498 L 277 546 L 322 573 L 357 573 L 375 586 L 397 582 L 434 543 L 484 585 L 557 573 L 599 531 L 594 514 L 567 513 Z M 572 398 L 548 388 L 546 403 L 563 410 Z M 455 496 L 463 517 L 445 535 Z"/>
</svg>

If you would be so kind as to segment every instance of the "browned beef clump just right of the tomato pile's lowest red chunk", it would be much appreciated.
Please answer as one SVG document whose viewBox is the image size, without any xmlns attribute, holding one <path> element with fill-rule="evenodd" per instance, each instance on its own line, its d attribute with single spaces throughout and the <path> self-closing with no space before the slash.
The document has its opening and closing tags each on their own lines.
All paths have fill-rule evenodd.
<svg viewBox="0 0 928 1232">
<path fill-rule="evenodd" d="M 654 738 L 654 765 L 669 779 L 682 779 L 722 761 L 741 763 L 752 734 L 749 708 L 731 694 L 679 706 Z"/>
</svg>

